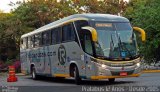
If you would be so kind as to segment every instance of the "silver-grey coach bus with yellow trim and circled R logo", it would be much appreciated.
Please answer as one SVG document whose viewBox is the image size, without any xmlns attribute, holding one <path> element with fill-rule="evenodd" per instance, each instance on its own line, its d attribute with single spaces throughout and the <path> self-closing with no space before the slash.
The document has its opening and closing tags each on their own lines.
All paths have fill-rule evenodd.
<svg viewBox="0 0 160 92">
<path fill-rule="evenodd" d="M 138 77 L 140 55 L 128 19 L 109 14 L 75 14 L 45 25 L 21 37 L 23 73 L 82 79 Z"/>
</svg>

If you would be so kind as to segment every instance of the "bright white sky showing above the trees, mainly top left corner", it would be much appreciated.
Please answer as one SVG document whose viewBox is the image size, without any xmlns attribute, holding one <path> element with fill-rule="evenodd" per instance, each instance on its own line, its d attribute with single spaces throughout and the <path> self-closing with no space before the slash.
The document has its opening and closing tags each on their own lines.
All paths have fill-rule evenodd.
<svg viewBox="0 0 160 92">
<path fill-rule="evenodd" d="M 17 2 L 17 1 L 23 1 L 23 0 L 0 0 L 0 10 L 2 10 L 5 13 L 10 12 L 11 9 L 15 8 L 15 7 L 11 7 L 8 4 L 10 2 Z M 128 1 L 128 0 L 124 0 L 124 1 Z"/>
</svg>

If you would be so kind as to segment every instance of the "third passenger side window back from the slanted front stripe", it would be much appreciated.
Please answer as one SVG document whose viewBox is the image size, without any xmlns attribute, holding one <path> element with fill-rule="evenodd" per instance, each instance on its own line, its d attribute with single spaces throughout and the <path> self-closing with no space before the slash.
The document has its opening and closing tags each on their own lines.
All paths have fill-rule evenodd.
<svg viewBox="0 0 160 92">
<path fill-rule="evenodd" d="M 42 33 L 42 44 L 45 45 L 50 45 L 51 43 L 51 36 L 50 36 L 50 31 L 45 31 Z"/>
</svg>

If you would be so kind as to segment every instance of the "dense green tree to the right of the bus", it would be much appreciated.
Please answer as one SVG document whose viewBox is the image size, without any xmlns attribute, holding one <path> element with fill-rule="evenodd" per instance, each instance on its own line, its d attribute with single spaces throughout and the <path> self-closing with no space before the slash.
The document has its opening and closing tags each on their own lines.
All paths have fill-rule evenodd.
<svg viewBox="0 0 160 92">
<path fill-rule="evenodd" d="M 140 51 L 149 63 L 160 60 L 160 0 L 131 0 L 124 15 L 133 18 L 132 24 L 146 31 L 147 41 Z"/>
</svg>

